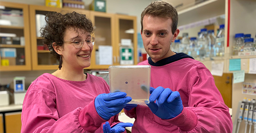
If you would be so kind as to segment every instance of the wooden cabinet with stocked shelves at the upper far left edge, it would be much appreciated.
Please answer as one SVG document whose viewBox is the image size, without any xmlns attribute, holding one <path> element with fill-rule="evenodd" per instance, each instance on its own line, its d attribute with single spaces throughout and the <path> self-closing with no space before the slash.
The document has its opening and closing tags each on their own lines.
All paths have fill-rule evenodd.
<svg viewBox="0 0 256 133">
<path fill-rule="evenodd" d="M 16 34 L 17 37 L 24 37 L 25 43 L 24 45 L 20 44 L 0 44 L 0 49 L 6 48 L 15 48 L 16 50 L 16 58 L 4 58 L 0 57 L 1 69 L 0 71 L 26 71 L 31 70 L 31 55 L 30 55 L 30 27 L 29 27 L 29 13 L 28 13 L 28 5 L 26 4 L 16 4 L 11 2 L 1 2 L 1 6 L 5 7 L 5 10 L 16 10 L 22 13 L 18 15 L 17 18 L 21 18 L 23 20 L 24 25 L 15 26 L 15 25 L 0 25 L 1 33 L 13 33 Z M 3 10 L 1 9 L 1 12 Z M 1 41 L 2 42 L 2 41 Z M 5 59 L 5 60 L 4 60 Z M 7 59 L 7 60 L 6 60 Z M 2 62 L 9 62 L 9 65 Z M 5 64 L 5 65 L 4 65 Z M 6 66 L 7 65 L 7 66 Z"/>
</svg>

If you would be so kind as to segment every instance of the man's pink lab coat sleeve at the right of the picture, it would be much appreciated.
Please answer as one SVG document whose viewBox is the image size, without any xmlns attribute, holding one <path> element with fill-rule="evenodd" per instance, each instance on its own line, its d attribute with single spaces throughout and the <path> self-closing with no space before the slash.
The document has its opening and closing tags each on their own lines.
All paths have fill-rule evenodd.
<svg viewBox="0 0 256 133">
<path fill-rule="evenodd" d="M 232 133 L 229 108 L 215 86 L 209 70 L 198 70 L 189 81 L 189 107 L 166 121 L 178 126 L 180 133 Z"/>
</svg>

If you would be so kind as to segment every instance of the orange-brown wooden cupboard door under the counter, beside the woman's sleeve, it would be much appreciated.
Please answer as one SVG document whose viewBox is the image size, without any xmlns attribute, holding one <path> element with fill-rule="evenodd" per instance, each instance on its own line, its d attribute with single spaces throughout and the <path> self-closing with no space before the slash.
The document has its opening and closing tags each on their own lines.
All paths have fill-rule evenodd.
<svg viewBox="0 0 256 133">
<path fill-rule="evenodd" d="M 21 112 L 5 113 L 6 133 L 20 133 Z"/>
</svg>

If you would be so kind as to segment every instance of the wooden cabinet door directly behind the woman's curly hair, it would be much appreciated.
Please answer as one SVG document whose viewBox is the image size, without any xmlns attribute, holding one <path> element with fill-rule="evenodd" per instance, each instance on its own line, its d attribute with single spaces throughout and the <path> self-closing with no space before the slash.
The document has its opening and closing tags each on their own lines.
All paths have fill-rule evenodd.
<svg viewBox="0 0 256 133">
<path fill-rule="evenodd" d="M 37 35 L 36 27 L 36 15 L 42 14 L 46 15 L 50 12 L 58 12 L 62 14 L 72 13 L 73 11 L 86 14 L 89 18 L 89 11 L 82 9 L 68 9 L 68 8 L 54 8 L 45 7 L 40 5 L 29 5 L 30 9 L 30 24 L 31 24 L 31 50 L 32 50 L 32 69 L 33 70 L 57 70 L 59 66 L 59 61 L 57 61 L 48 49 L 38 50 L 38 47 L 42 47 L 44 44 L 42 38 Z"/>
</svg>

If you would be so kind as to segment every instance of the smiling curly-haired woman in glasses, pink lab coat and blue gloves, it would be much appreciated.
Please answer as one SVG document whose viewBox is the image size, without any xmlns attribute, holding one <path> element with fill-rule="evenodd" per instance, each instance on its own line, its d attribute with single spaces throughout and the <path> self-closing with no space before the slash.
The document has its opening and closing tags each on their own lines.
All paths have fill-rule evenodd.
<svg viewBox="0 0 256 133">
<path fill-rule="evenodd" d="M 46 15 L 46 23 L 43 42 L 59 59 L 59 69 L 30 84 L 22 106 L 21 133 L 102 133 L 107 121 L 111 127 L 132 126 L 119 124 L 117 115 L 131 97 L 109 93 L 102 77 L 83 73 L 91 64 L 95 40 L 91 20 L 75 12 L 52 13 Z"/>
</svg>

